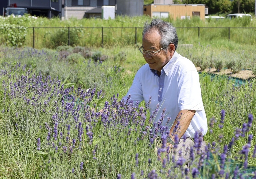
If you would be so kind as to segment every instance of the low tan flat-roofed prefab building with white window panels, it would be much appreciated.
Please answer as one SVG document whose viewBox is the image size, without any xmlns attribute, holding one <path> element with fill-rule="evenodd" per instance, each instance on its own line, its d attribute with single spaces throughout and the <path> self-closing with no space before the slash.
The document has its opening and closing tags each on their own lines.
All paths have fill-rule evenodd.
<svg viewBox="0 0 256 179">
<path fill-rule="evenodd" d="M 199 16 L 204 20 L 207 14 L 205 4 L 148 4 L 143 6 L 143 14 L 151 18 L 185 19 Z"/>
</svg>

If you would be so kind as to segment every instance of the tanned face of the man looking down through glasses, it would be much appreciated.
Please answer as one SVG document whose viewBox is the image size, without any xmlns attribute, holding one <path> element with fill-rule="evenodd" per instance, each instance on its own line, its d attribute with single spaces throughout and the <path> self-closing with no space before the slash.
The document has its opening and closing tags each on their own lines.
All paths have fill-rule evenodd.
<svg viewBox="0 0 256 179">
<path fill-rule="evenodd" d="M 157 51 L 162 46 L 160 45 L 160 34 L 157 30 L 151 30 L 144 34 L 142 38 L 142 48 L 144 50 L 152 50 Z M 171 44 L 172 46 L 173 44 Z M 153 70 L 157 70 L 161 73 L 162 68 L 169 62 L 170 58 L 172 57 L 174 51 L 170 49 L 170 45 L 167 47 L 168 51 L 165 52 L 164 50 L 160 50 L 155 56 L 150 56 L 147 52 L 143 57 L 146 62 L 149 64 L 149 67 Z"/>
</svg>

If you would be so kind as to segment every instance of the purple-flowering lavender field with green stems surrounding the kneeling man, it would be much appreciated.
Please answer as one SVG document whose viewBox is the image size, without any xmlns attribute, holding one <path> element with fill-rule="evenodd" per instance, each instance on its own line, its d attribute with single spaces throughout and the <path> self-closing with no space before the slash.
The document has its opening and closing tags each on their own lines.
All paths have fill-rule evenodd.
<svg viewBox="0 0 256 179">
<path fill-rule="evenodd" d="M 186 167 L 152 123 L 165 111 L 123 99 L 136 69 L 121 54 L 71 55 L 0 47 L 0 178 L 256 178 L 255 80 L 200 74 L 208 146 L 198 131 Z"/>
</svg>

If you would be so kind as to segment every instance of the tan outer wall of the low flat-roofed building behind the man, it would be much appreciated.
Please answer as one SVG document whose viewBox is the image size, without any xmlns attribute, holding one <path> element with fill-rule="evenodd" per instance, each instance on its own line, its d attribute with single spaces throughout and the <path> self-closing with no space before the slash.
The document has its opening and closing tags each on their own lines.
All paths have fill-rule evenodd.
<svg viewBox="0 0 256 179">
<path fill-rule="evenodd" d="M 146 8 L 146 11 L 145 11 Z M 144 15 L 149 15 L 151 18 L 153 18 L 153 12 L 169 12 L 169 16 L 172 19 L 181 19 L 186 16 L 190 16 L 192 18 L 193 15 L 200 12 L 200 19 L 204 20 L 205 17 L 205 5 L 196 5 L 196 4 L 179 4 L 179 5 L 173 5 L 173 4 L 150 4 L 150 5 L 144 5 Z M 193 13 L 194 12 L 194 13 Z"/>
</svg>

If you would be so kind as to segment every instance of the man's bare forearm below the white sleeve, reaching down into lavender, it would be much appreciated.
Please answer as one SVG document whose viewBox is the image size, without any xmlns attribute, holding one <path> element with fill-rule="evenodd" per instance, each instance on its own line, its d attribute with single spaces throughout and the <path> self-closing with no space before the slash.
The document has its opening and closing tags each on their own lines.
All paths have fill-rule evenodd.
<svg viewBox="0 0 256 179">
<path fill-rule="evenodd" d="M 195 115 L 195 110 L 181 110 L 179 112 L 179 114 L 176 117 L 176 120 L 174 121 L 171 129 L 170 129 L 170 134 L 169 137 L 172 139 L 172 141 L 174 141 L 174 135 L 172 135 L 173 133 L 173 129 L 177 123 L 177 120 L 179 120 L 180 124 L 180 131 L 178 131 L 178 138 L 180 139 L 186 132 L 187 128 L 190 125 L 191 120 L 193 119 Z M 172 145 L 168 143 L 168 145 L 171 147 Z"/>
</svg>

